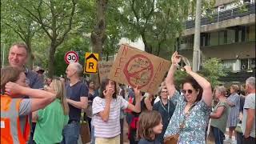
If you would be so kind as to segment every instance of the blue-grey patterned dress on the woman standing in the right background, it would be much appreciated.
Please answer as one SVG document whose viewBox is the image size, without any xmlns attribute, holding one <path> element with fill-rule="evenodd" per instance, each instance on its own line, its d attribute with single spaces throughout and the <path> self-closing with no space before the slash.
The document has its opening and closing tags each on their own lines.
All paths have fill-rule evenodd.
<svg viewBox="0 0 256 144">
<path fill-rule="evenodd" d="M 227 118 L 227 127 L 237 126 L 239 121 L 240 96 L 236 93 L 230 94 L 230 97 L 226 100 L 234 103 L 234 106 L 230 107 L 230 114 Z"/>
</svg>

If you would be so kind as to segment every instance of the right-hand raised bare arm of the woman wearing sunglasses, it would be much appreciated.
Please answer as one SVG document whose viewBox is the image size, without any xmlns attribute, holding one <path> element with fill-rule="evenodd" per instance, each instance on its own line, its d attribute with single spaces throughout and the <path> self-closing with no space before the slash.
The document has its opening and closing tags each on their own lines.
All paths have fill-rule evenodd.
<svg viewBox="0 0 256 144">
<path fill-rule="evenodd" d="M 203 90 L 202 100 L 206 102 L 208 106 L 211 106 L 213 96 L 212 96 L 210 82 L 208 82 L 206 78 L 203 78 L 199 74 L 192 71 L 191 66 L 184 66 L 184 69 L 186 70 L 186 73 L 190 74 L 190 76 L 193 77 L 198 82 L 198 84 L 202 87 L 202 90 Z"/>
</svg>

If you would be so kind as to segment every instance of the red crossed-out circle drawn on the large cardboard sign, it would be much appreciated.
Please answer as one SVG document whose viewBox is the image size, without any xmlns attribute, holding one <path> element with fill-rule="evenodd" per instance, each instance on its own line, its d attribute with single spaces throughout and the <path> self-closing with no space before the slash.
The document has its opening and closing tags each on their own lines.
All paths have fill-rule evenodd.
<svg viewBox="0 0 256 144">
<path fill-rule="evenodd" d="M 126 63 L 123 73 L 130 86 L 138 86 L 138 89 L 141 89 L 153 78 L 154 67 L 149 58 L 136 54 Z"/>
</svg>

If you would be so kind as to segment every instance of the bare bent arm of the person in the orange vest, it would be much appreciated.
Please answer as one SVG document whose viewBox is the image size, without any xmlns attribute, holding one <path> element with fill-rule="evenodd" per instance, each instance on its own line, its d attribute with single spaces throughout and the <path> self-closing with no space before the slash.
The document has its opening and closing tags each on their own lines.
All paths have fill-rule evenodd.
<svg viewBox="0 0 256 144">
<path fill-rule="evenodd" d="M 19 86 L 14 82 L 6 84 L 6 92 L 14 97 L 14 95 L 27 95 L 31 98 L 31 112 L 39 110 L 53 102 L 56 94 L 46 90 L 31 89 L 28 87 Z"/>
</svg>

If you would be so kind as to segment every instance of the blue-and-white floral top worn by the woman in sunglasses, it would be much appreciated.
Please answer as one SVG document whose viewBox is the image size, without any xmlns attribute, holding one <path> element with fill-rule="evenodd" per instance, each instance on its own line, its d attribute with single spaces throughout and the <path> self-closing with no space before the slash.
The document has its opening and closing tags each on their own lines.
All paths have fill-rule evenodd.
<svg viewBox="0 0 256 144">
<path fill-rule="evenodd" d="M 175 110 L 167 126 L 165 137 L 179 134 L 178 143 L 180 144 L 205 144 L 210 106 L 202 100 L 197 102 L 184 122 L 185 127 L 180 131 L 180 124 L 185 118 L 186 99 L 176 90 L 171 101 L 174 103 Z"/>
</svg>

